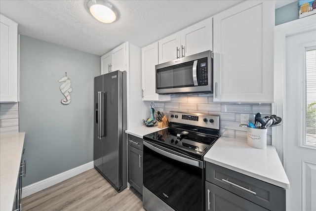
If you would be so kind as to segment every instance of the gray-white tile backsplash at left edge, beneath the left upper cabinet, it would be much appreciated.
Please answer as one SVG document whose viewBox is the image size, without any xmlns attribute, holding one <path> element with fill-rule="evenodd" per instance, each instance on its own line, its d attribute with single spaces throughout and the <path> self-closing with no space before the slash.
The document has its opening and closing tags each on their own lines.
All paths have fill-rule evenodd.
<svg viewBox="0 0 316 211">
<path fill-rule="evenodd" d="M 19 103 L 0 103 L 0 135 L 19 132 Z"/>
</svg>

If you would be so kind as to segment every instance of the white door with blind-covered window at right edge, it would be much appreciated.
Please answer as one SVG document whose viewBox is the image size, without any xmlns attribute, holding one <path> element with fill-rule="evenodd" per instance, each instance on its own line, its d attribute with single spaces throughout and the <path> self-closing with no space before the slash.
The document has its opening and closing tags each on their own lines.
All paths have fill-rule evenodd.
<svg viewBox="0 0 316 211">
<path fill-rule="evenodd" d="M 285 39 L 286 210 L 316 210 L 316 29 Z"/>
</svg>

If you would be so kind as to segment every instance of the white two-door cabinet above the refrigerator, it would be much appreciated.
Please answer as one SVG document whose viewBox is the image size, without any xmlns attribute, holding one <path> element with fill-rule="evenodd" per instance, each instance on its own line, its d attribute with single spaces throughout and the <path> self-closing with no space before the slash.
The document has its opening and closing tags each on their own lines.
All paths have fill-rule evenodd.
<svg viewBox="0 0 316 211">
<path fill-rule="evenodd" d="M 101 75 L 117 70 L 126 71 L 126 42 L 101 56 Z"/>
</svg>

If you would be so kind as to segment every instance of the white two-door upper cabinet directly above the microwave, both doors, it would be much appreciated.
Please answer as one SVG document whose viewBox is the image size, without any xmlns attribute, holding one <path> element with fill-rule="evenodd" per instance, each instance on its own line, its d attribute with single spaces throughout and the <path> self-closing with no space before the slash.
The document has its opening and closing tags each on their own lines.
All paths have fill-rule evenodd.
<svg viewBox="0 0 316 211">
<path fill-rule="evenodd" d="M 158 41 L 159 64 L 212 50 L 212 18 Z"/>
</svg>

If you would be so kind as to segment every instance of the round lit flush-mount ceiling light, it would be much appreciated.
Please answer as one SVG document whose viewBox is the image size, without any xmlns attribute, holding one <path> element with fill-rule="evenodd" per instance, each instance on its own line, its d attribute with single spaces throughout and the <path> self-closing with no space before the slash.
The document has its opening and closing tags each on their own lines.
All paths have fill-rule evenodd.
<svg viewBox="0 0 316 211">
<path fill-rule="evenodd" d="M 107 0 L 89 0 L 87 2 L 91 15 L 103 23 L 112 23 L 118 18 L 118 10 Z"/>
</svg>

